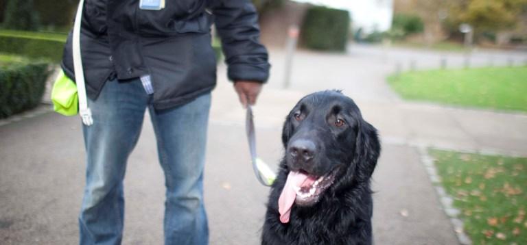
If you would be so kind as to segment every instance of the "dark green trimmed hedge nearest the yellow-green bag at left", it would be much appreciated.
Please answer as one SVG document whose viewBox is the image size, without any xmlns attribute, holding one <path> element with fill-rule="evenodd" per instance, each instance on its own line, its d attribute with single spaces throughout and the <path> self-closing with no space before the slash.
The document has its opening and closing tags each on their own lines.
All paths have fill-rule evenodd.
<svg viewBox="0 0 527 245">
<path fill-rule="evenodd" d="M 47 62 L 16 62 L 0 66 L 0 118 L 36 107 L 50 74 Z"/>
</svg>

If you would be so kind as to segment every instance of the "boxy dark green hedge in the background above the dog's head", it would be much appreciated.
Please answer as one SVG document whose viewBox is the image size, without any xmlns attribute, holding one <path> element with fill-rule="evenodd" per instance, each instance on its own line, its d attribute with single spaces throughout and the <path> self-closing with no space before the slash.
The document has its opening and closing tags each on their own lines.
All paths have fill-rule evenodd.
<svg viewBox="0 0 527 245">
<path fill-rule="evenodd" d="M 350 21 L 346 10 L 313 6 L 305 13 L 301 43 L 308 49 L 345 51 Z"/>
</svg>

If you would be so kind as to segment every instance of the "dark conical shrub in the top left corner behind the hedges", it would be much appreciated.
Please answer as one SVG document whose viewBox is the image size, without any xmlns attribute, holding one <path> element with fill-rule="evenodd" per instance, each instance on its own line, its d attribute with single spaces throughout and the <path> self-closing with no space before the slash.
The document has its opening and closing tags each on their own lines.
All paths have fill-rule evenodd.
<svg viewBox="0 0 527 245">
<path fill-rule="evenodd" d="M 21 30 L 38 29 L 38 13 L 34 10 L 33 0 L 8 0 L 4 15 L 4 28 Z"/>
</svg>

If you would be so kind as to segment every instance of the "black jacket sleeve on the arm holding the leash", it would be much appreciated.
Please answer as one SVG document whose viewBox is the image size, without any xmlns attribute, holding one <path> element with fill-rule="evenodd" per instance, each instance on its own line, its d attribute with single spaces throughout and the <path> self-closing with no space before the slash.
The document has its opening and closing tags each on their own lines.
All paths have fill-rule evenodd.
<svg viewBox="0 0 527 245">
<path fill-rule="evenodd" d="M 215 26 L 232 81 L 267 81 L 270 64 L 260 30 L 256 9 L 249 0 L 213 1 Z"/>
</svg>

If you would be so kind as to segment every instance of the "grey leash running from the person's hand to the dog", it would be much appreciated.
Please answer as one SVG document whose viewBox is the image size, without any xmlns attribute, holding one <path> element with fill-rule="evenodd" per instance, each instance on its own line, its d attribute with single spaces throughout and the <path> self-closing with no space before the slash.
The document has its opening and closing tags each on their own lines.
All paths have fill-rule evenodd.
<svg viewBox="0 0 527 245">
<path fill-rule="evenodd" d="M 249 142 L 250 158 L 253 162 L 253 170 L 255 171 L 256 179 L 258 179 L 262 185 L 271 186 L 274 180 L 277 179 L 277 175 L 264 161 L 257 157 L 255 122 L 253 120 L 253 109 L 250 105 L 247 105 L 245 129 L 247 132 L 247 140 Z"/>
</svg>

